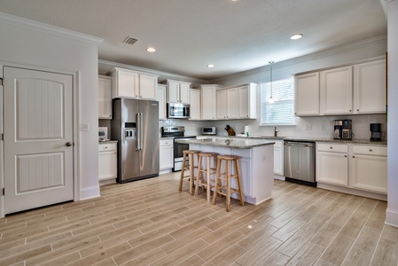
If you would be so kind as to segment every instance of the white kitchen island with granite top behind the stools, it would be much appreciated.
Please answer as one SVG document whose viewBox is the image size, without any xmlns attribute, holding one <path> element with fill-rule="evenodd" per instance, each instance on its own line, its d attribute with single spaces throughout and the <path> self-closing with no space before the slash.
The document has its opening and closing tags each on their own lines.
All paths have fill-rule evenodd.
<svg viewBox="0 0 398 266">
<path fill-rule="evenodd" d="M 179 140 L 178 140 L 179 141 Z M 258 205 L 271 198 L 274 187 L 274 144 L 264 139 L 241 139 L 230 137 L 206 137 L 181 140 L 191 150 L 240 157 L 241 180 L 245 201 Z M 221 169 L 223 172 L 225 169 Z M 232 186 L 236 187 L 234 182 Z M 237 199 L 237 195 L 233 194 Z"/>
</svg>

